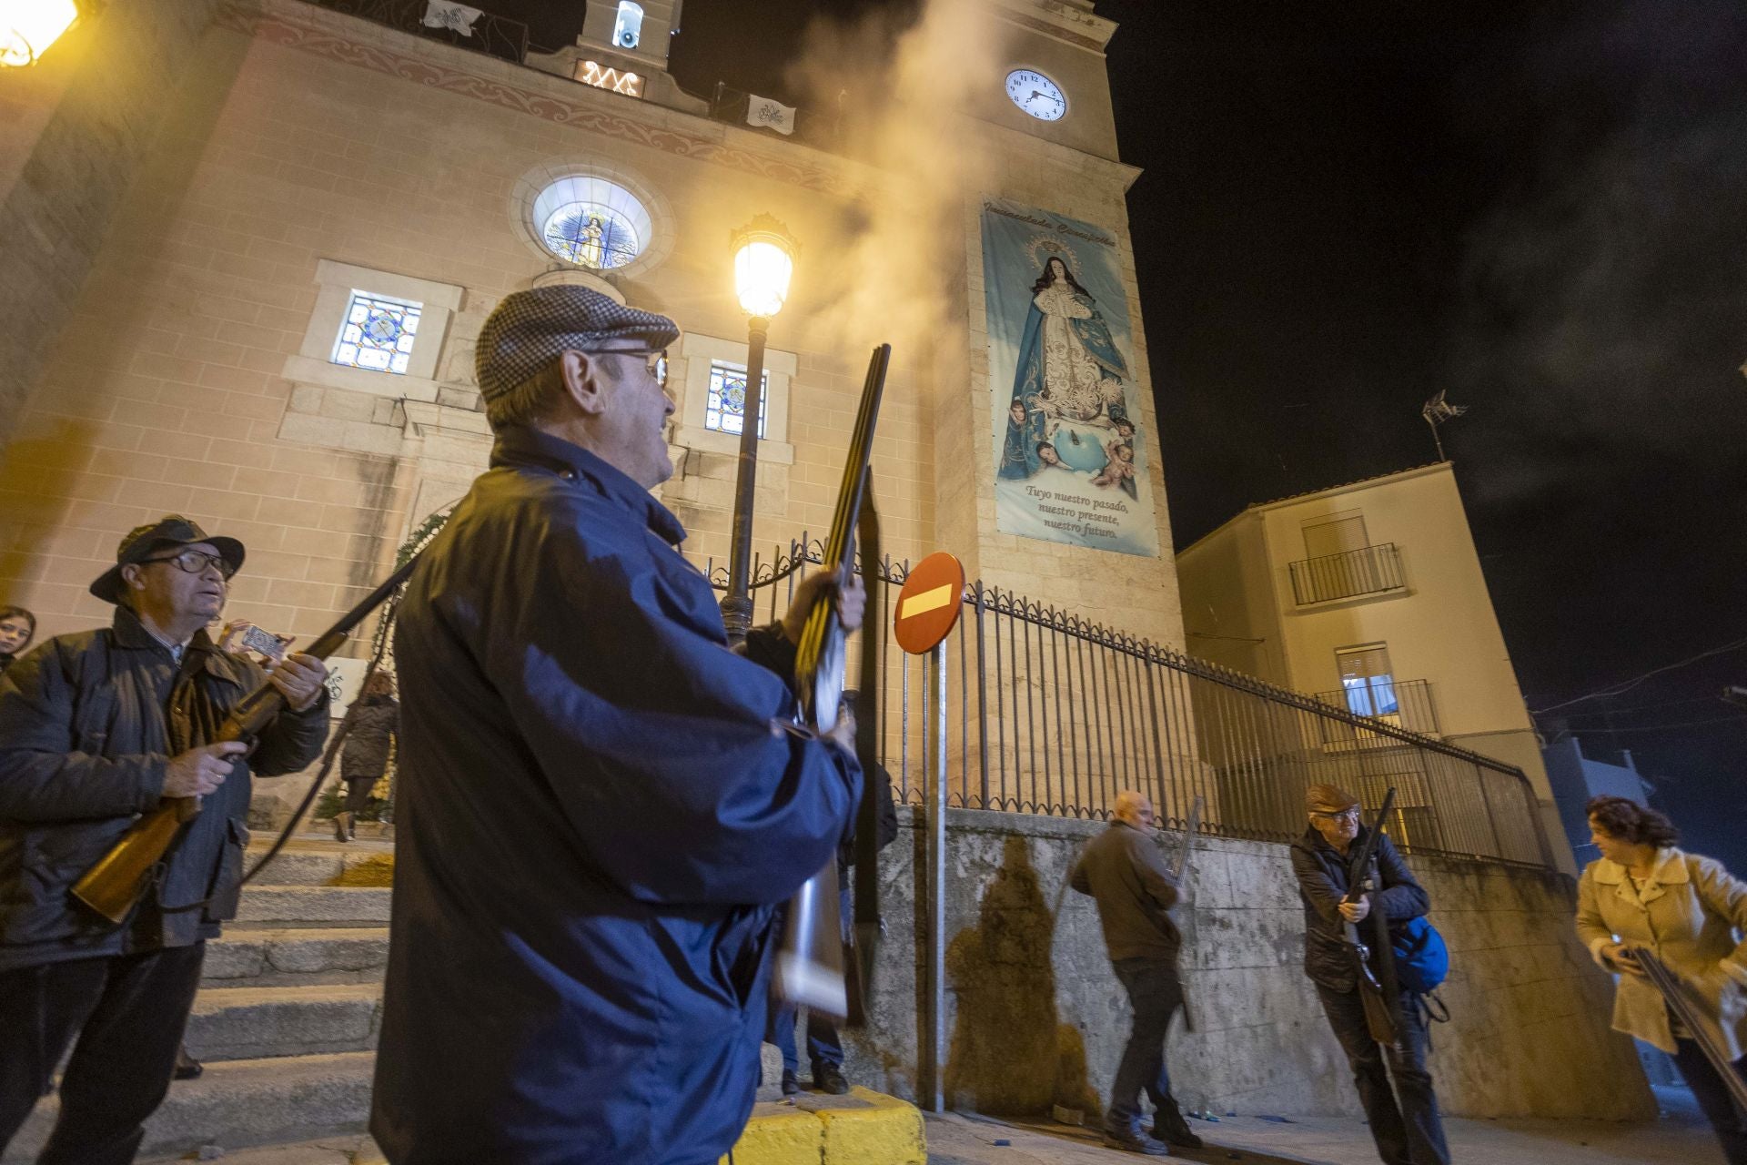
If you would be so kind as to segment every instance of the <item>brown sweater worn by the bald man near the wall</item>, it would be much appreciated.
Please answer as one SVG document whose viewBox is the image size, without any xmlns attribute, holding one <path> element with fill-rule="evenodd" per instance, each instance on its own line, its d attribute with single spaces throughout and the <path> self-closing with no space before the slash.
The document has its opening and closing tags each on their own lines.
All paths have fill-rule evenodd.
<svg viewBox="0 0 1747 1165">
<path fill-rule="evenodd" d="M 1097 900 L 1111 962 L 1155 959 L 1176 966 L 1183 936 L 1169 910 L 1177 901 L 1177 882 L 1150 833 L 1111 821 L 1087 842 L 1069 886 Z"/>
</svg>

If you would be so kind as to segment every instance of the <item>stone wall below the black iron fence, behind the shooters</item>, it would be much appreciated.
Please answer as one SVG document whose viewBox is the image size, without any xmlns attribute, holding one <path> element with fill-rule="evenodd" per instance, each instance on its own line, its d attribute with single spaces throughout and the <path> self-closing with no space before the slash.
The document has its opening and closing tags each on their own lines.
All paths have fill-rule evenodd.
<svg viewBox="0 0 1747 1165">
<path fill-rule="evenodd" d="M 880 861 L 887 933 L 868 1032 L 849 1036 L 849 1074 L 917 1093 L 921 814 Z M 1102 823 L 952 810 L 949 817 L 947 1104 L 1102 1111 L 1129 1004 L 1090 898 L 1066 889 Z M 1654 1100 L 1630 1039 L 1609 1031 L 1612 985 L 1571 929 L 1574 887 L 1532 870 L 1410 859 L 1452 948 L 1433 1072 L 1460 1116 L 1649 1118 Z M 1303 913 L 1288 849 L 1200 838 L 1183 973 L 1195 1031 L 1172 1031 L 1184 1106 L 1242 1113 L 1356 1113 L 1357 1099 L 1303 976 Z"/>
</svg>

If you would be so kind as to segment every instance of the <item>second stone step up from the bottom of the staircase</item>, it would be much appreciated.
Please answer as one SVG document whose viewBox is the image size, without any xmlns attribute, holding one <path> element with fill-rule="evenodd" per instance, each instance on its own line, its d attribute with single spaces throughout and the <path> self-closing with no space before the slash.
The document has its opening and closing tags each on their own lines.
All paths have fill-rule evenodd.
<svg viewBox="0 0 1747 1165">
<path fill-rule="evenodd" d="M 257 1060 L 376 1048 L 379 983 L 218 987 L 194 999 L 185 1037 L 196 1060 Z"/>
</svg>

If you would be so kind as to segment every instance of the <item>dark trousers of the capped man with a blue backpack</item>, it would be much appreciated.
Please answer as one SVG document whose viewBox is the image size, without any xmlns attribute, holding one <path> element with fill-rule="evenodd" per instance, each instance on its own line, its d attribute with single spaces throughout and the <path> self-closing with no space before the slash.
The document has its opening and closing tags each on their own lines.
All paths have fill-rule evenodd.
<svg viewBox="0 0 1747 1165">
<path fill-rule="evenodd" d="M 1384 1165 L 1450 1165 L 1443 1141 L 1438 1095 L 1426 1071 L 1426 1017 L 1408 992 L 1401 992 L 1401 1050 L 1384 1050 L 1364 1027 L 1364 1001 L 1357 990 L 1338 992 L 1317 983 L 1335 1039 L 1347 1053 L 1359 1104 L 1371 1123 L 1371 1139 Z M 1389 1081 L 1394 1078 L 1394 1090 Z"/>
</svg>

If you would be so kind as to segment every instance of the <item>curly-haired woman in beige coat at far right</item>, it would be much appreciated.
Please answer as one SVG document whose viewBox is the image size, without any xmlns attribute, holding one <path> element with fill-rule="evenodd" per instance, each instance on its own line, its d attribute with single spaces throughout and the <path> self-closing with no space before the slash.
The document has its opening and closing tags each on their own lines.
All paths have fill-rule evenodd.
<svg viewBox="0 0 1747 1165">
<path fill-rule="evenodd" d="M 1668 1004 L 1632 959 L 1654 954 L 1691 987 L 1702 1022 L 1742 1072 L 1747 1051 L 1747 884 L 1723 863 L 1675 847 L 1681 835 L 1654 809 L 1623 796 L 1588 803 L 1590 840 L 1602 851 L 1578 882 L 1578 938 L 1619 975 L 1614 1031 L 1674 1057 L 1698 1107 L 1717 1130 L 1730 1165 L 1747 1165 L 1747 1132 L 1693 1034 L 1670 1022 Z"/>
</svg>

